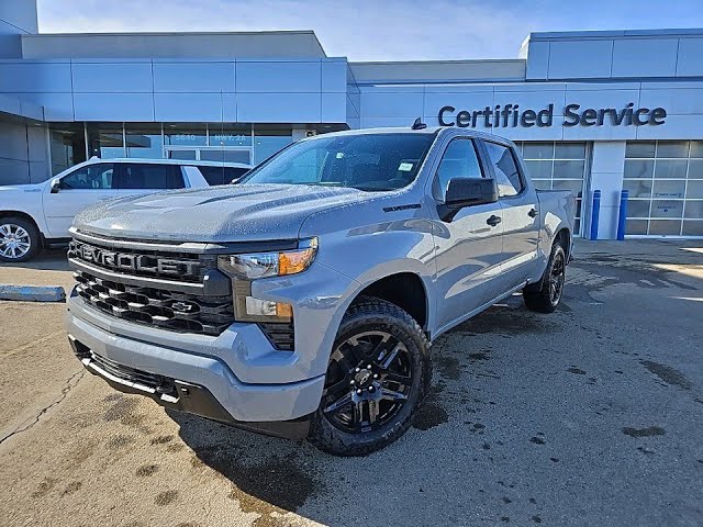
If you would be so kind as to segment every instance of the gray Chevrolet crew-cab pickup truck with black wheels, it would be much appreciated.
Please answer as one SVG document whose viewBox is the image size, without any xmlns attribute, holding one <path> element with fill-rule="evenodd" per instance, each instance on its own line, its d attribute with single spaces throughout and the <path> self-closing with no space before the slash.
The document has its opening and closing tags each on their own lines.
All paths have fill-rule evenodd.
<svg viewBox="0 0 703 527">
<path fill-rule="evenodd" d="M 80 213 L 69 340 L 122 392 L 365 455 L 409 428 L 431 341 L 517 291 L 555 310 L 573 217 L 501 137 L 306 138 L 236 184 Z"/>
</svg>

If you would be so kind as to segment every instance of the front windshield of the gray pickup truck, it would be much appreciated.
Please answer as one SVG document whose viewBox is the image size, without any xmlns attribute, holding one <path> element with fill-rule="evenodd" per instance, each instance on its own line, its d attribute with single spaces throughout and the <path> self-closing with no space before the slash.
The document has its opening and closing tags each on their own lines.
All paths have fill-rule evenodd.
<svg viewBox="0 0 703 527">
<path fill-rule="evenodd" d="M 415 179 L 433 141 L 429 133 L 321 136 L 281 150 L 241 183 L 400 189 Z"/>
</svg>

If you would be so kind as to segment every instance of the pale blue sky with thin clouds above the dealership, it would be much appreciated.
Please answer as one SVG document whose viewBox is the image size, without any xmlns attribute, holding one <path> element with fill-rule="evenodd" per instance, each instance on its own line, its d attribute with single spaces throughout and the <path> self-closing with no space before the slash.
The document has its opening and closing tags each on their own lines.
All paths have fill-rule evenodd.
<svg viewBox="0 0 703 527">
<path fill-rule="evenodd" d="M 532 31 L 703 27 L 703 0 L 37 0 L 40 32 L 313 30 L 350 60 L 515 58 Z"/>
</svg>

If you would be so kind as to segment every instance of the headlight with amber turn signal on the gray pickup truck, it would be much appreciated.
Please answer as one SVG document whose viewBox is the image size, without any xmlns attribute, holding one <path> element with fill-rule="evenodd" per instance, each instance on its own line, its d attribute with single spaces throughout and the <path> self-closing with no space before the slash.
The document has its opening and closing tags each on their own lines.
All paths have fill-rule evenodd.
<svg viewBox="0 0 703 527">
<path fill-rule="evenodd" d="M 317 254 L 317 238 L 300 242 L 297 249 L 276 253 L 250 253 L 220 256 L 217 267 L 231 278 L 256 280 L 257 278 L 295 274 L 310 267 Z"/>
</svg>

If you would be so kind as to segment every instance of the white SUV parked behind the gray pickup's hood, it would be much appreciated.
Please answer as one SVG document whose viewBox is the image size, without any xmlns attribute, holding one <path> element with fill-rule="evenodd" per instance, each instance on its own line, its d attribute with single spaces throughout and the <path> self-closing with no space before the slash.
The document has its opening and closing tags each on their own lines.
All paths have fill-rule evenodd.
<svg viewBox="0 0 703 527">
<path fill-rule="evenodd" d="M 74 216 L 102 200 L 225 184 L 249 167 L 172 159 L 92 159 L 36 184 L 0 187 L 0 261 L 25 261 L 68 242 Z"/>
</svg>

